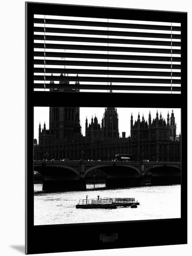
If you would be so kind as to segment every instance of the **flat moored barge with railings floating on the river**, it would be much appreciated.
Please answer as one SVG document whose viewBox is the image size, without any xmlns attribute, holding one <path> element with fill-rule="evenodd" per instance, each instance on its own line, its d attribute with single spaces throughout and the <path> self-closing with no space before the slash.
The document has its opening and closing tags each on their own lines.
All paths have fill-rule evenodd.
<svg viewBox="0 0 192 256">
<path fill-rule="evenodd" d="M 102 208 L 102 209 L 116 209 L 117 207 L 127 207 L 132 205 L 139 205 L 139 202 L 135 202 L 134 198 L 111 198 L 104 197 L 97 199 L 86 199 L 79 200 L 79 203 L 76 205 L 76 208 L 82 209 L 94 209 L 94 208 Z"/>
</svg>

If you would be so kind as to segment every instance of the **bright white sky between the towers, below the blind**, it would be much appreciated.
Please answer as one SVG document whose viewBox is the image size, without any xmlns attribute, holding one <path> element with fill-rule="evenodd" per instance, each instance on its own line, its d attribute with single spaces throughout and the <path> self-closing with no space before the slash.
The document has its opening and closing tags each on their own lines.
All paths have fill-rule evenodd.
<svg viewBox="0 0 192 256">
<path fill-rule="evenodd" d="M 172 108 L 117 108 L 117 113 L 119 115 L 119 133 L 122 136 L 122 132 L 126 132 L 126 137 L 130 135 L 130 119 L 131 113 L 133 113 L 133 120 L 137 120 L 138 112 L 140 113 L 140 120 L 142 115 L 144 115 L 145 120 L 148 123 L 149 110 L 151 112 L 151 119 L 156 117 L 156 112 L 158 110 L 159 118 L 160 112 L 162 118 L 167 118 L 167 113 L 171 117 Z M 91 122 L 91 117 L 97 117 L 98 122 L 101 123 L 102 115 L 105 108 L 80 108 L 80 123 L 82 126 L 82 134 L 85 135 L 85 119 L 87 116 L 88 124 Z M 173 108 L 175 122 L 177 123 L 177 135 L 181 131 L 181 110 L 180 108 Z M 41 123 L 43 128 L 44 122 L 46 124 L 46 129 L 49 129 L 49 107 L 34 107 L 34 138 L 38 140 L 38 125 Z"/>
</svg>

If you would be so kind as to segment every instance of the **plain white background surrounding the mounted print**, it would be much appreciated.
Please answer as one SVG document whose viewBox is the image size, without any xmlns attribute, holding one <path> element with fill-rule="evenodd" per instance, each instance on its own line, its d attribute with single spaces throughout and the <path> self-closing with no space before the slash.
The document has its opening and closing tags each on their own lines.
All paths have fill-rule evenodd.
<svg viewBox="0 0 192 256">
<path fill-rule="evenodd" d="M 128 7 L 188 12 L 188 44 L 192 42 L 192 7 L 189 0 L 47 0 L 46 2 L 95 6 Z M 192 58 L 188 49 L 188 60 Z M 25 238 L 25 1 L 0 2 L 0 254 L 24 254 Z M 188 101 L 191 103 L 191 68 L 188 61 Z M 192 126 L 188 106 L 188 131 Z M 188 145 L 192 143 L 188 134 Z M 191 153 L 188 146 L 188 159 Z M 111 255 L 191 255 L 192 175 L 188 164 L 188 245 L 65 252 L 63 256 Z M 179 236 L 178 230 L 178 236 Z M 138 234 L 139 236 L 139 234 Z M 152 235 L 153 236 L 153 235 Z"/>
</svg>

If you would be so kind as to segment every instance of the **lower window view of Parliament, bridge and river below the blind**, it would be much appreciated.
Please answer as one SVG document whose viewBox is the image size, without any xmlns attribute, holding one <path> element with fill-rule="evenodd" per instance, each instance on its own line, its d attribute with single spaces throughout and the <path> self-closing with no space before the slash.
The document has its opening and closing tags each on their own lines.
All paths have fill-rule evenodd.
<svg viewBox="0 0 192 256">
<path fill-rule="evenodd" d="M 34 224 L 180 218 L 180 116 L 34 108 Z"/>
</svg>

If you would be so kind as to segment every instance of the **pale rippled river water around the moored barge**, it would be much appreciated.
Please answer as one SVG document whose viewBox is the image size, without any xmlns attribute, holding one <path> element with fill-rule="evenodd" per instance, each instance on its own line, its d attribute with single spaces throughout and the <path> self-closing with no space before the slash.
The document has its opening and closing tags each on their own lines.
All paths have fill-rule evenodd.
<svg viewBox="0 0 192 256">
<path fill-rule="evenodd" d="M 180 218 L 180 185 L 145 186 L 123 189 L 103 189 L 105 184 L 87 184 L 86 191 L 42 191 L 34 184 L 34 225 L 115 222 Z M 102 189 L 98 189 L 102 188 Z M 79 199 L 100 197 L 134 197 L 138 208 L 76 209 Z"/>
</svg>

